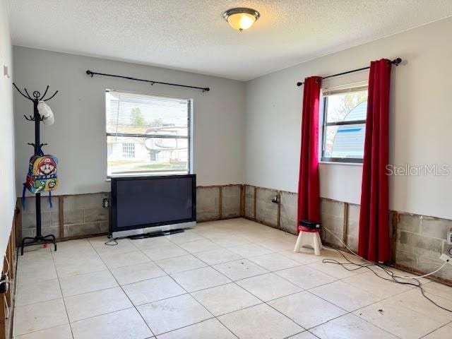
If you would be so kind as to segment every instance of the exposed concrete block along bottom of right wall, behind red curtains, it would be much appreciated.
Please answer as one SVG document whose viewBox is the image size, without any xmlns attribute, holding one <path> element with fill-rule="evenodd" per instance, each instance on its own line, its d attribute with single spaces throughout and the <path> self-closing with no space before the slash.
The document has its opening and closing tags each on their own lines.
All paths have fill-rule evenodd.
<svg viewBox="0 0 452 339">
<path fill-rule="evenodd" d="M 244 218 L 277 227 L 297 234 L 297 194 L 287 191 L 275 191 L 245 186 Z M 256 218 L 254 218 L 254 190 L 257 192 Z M 271 199 L 277 194 L 278 204 Z M 279 205 L 279 213 L 278 211 Z M 277 222 L 274 221 L 278 216 Z M 396 266 L 408 268 L 418 273 L 429 273 L 443 264 L 439 260 L 452 245 L 447 244 L 446 235 L 452 230 L 452 220 L 432 218 L 424 215 L 411 215 L 390 211 L 388 216 L 392 234 L 391 261 Z M 336 237 L 343 240 L 350 249 L 357 251 L 359 205 L 321 198 L 321 222 Z M 344 247 L 338 239 L 324 231 L 323 242 Z M 436 273 L 436 277 L 452 283 L 452 268 L 446 266 Z"/>
</svg>

